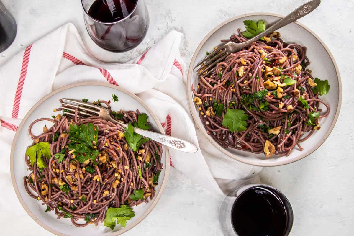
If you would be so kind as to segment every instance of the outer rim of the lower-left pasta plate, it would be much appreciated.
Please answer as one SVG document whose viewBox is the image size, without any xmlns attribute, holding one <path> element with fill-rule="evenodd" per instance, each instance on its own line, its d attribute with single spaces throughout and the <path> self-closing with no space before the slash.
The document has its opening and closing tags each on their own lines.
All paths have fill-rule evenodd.
<svg viewBox="0 0 354 236">
<path fill-rule="evenodd" d="M 23 128 L 23 125 L 25 123 L 25 121 L 27 121 L 28 117 L 30 116 L 30 114 L 32 114 L 32 112 L 45 100 L 47 100 L 48 98 L 52 97 L 54 94 L 61 92 L 63 90 L 67 90 L 69 88 L 73 88 L 73 87 L 78 87 L 78 86 L 86 86 L 86 85 L 96 85 L 96 86 L 104 86 L 104 87 L 109 87 L 109 88 L 114 88 L 116 90 L 119 90 L 120 92 L 126 93 L 127 95 L 129 95 L 130 97 L 132 97 L 133 99 L 136 99 L 140 104 L 143 105 L 143 107 L 150 113 L 152 119 L 156 122 L 159 131 L 162 134 L 165 134 L 164 129 L 162 128 L 162 125 L 158 119 L 158 117 L 153 113 L 153 111 L 148 107 L 148 105 L 138 96 L 136 96 L 133 93 L 130 93 L 128 91 L 126 91 L 124 88 L 121 88 L 119 86 L 116 85 L 111 85 L 111 84 L 107 84 L 105 82 L 79 82 L 79 83 L 75 83 L 75 84 L 71 84 L 71 85 L 66 85 L 63 87 L 58 88 L 57 90 L 54 90 L 50 93 L 48 93 L 46 96 L 44 96 L 43 98 L 41 98 L 29 111 L 28 113 L 23 117 L 23 120 L 21 121 L 20 125 L 18 126 L 18 129 L 16 131 L 15 137 L 13 138 L 13 144 L 16 143 L 17 138 L 19 136 L 20 131 Z M 11 146 L 11 155 L 10 155 L 10 172 L 11 172 L 11 182 L 13 185 L 13 189 L 15 190 L 16 196 L 19 200 L 19 202 L 21 203 L 22 207 L 25 209 L 25 211 L 27 212 L 27 214 L 40 226 L 42 226 L 44 229 L 48 230 L 49 232 L 51 232 L 52 234 L 56 234 L 58 236 L 69 236 L 67 234 L 63 234 L 59 231 L 56 231 L 52 228 L 50 228 L 50 226 L 47 226 L 46 224 L 44 224 L 42 221 L 40 221 L 31 211 L 30 209 L 27 207 L 26 203 L 23 201 L 21 194 L 19 193 L 18 187 L 17 187 L 17 183 L 16 183 L 16 179 L 15 179 L 15 174 L 13 172 L 13 159 L 14 159 L 14 152 L 15 152 L 15 146 L 16 145 L 12 145 Z M 161 184 L 161 189 L 158 192 L 158 194 L 155 195 L 151 206 L 147 209 L 147 211 L 140 217 L 138 218 L 134 223 L 132 223 L 131 225 L 127 226 L 126 228 L 123 228 L 122 230 L 116 231 L 116 232 L 112 232 L 111 234 L 107 235 L 107 236 L 117 236 L 117 235 L 121 235 L 124 232 L 127 232 L 128 230 L 134 228 L 137 224 L 139 224 L 145 217 L 147 217 L 147 215 L 152 211 L 152 209 L 156 206 L 157 202 L 159 201 L 162 192 L 165 189 L 166 183 L 167 183 L 167 179 L 169 177 L 169 173 L 170 173 L 170 154 L 169 154 L 169 150 L 168 148 L 166 148 L 166 146 L 164 146 L 164 151 L 165 151 L 165 158 L 166 158 L 166 166 L 165 168 L 165 175 L 164 175 L 164 179 L 162 181 Z"/>
</svg>

